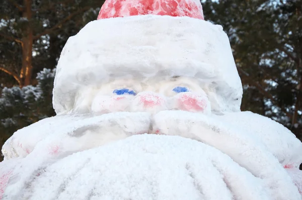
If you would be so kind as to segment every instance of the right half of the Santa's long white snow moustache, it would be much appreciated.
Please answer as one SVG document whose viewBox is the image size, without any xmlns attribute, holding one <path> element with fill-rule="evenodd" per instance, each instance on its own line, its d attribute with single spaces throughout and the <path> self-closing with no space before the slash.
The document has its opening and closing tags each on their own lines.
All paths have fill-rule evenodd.
<svg viewBox="0 0 302 200">
<path fill-rule="evenodd" d="M 237 127 L 217 121 L 213 116 L 183 111 L 159 112 L 153 117 L 152 124 L 150 133 L 194 139 L 230 156 L 263 181 L 272 199 L 299 196 L 288 173 L 272 152 L 258 138 Z"/>
</svg>

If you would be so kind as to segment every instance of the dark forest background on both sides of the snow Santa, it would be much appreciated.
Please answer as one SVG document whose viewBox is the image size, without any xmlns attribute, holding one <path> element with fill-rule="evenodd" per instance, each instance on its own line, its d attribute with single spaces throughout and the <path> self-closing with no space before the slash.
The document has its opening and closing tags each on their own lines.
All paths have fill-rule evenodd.
<svg viewBox="0 0 302 200">
<path fill-rule="evenodd" d="M 1 0 L 0 146 L 55 115 L 55 67 L 68 37 L 97 18 L 103 1 Z M 302 2 L 202 1 L 228 34 L 243 82 L 242 111 L 272 118 L 302 139 Z M 302 152 L 301 152 L 302 153 Z M 0 161 L 2 157 L 0 156 Z"/>
</svg>

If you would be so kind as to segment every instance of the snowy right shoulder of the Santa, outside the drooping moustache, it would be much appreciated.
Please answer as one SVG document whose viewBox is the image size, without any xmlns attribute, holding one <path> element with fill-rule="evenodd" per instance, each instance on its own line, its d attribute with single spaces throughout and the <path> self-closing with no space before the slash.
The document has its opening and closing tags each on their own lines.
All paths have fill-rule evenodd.
<svg viewBox="0 0 302 200">
<path fill-rule="evenodd" d="M 298 168 L 302 162 L 301 142 L 283 125 L 252 112 L 228 113 L 216 118 L 255 137 L 284 167 Z"/>
</svg>

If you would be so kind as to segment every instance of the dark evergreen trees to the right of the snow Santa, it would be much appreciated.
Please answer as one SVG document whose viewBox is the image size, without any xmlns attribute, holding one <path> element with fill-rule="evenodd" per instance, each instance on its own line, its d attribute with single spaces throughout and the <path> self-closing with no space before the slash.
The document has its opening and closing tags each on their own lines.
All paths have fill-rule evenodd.
<svg viewBox="0 0 302 200">
<path fill-rule="evenodd" d="M 270 117 L 302 139 L 302 2 L 205 1 L 228 34 L 244 86 L 242 110 Z"/>
</svg>

